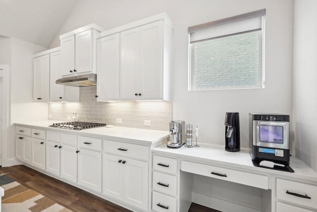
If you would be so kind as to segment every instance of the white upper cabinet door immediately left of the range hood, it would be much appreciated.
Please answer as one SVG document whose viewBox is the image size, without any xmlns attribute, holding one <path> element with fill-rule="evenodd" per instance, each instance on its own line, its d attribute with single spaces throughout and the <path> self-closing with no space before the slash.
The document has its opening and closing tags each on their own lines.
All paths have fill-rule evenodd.
<svg viewBox="0 0 317 212">
<path fill-rule="evenodd" d="M 64 100 L 64 85 L 56 84 L 55 81 L 61 77 L 60 51 L 50 54 L 50 100 Z"/>
</svg>

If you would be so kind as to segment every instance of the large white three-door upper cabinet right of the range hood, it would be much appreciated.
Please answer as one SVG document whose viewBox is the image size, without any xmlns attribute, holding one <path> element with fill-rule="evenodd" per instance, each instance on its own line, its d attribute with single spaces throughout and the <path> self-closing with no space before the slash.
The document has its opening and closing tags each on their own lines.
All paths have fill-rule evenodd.
<svg viewBox="0 0 317 212">
<path fill-rule="evenodd" d="M 161 13 L 102 32 L 97 43 L 97 74 L 102 77 L 97 101 L 171 100 L 172 31 L 170 19 Z M 105 42 L 112 36 L 116 40 L 110 51 Z"/>
</svg>

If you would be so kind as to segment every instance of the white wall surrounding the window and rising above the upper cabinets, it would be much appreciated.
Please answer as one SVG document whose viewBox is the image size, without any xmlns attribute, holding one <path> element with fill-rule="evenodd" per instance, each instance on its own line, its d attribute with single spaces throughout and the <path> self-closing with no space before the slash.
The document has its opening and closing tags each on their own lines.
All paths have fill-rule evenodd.
<svg viewBox="0 0 317 212">
<path fill-rule="evenodd" d="M 189 26 L 266 9 L 265 88 L 187 91 Z M 242 146 L 248 113 L 292 112 L 293 0 L 79 0 L 59 34 L 96 23 L 104 29 L 166 12 L 174 24 L 173 115 L 200 128 L 200 142 L 224 143 L 225 112 L 239 112 Z M 52 48 L 59 46 L 57 36 Z"/>
</svg>

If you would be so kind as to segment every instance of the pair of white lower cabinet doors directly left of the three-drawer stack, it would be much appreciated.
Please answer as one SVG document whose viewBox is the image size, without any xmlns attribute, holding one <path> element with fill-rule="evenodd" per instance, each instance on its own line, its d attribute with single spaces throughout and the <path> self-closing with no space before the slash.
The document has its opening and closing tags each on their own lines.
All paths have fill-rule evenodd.
<svg viewBox="0 0 317 212">
<path fill-rule="evenodd" d="M 147 162 L 103 154 L 103 193 L 126 204 L 148 210 Z"/>
</svg>

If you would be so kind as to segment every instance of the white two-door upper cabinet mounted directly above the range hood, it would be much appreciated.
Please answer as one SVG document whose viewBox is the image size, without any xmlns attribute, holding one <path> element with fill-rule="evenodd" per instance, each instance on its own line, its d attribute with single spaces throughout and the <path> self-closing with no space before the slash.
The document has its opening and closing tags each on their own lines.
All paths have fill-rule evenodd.
<svg viewBox="0 0 317 212">
<path fill-rule="evenodd" d="M 96 39 L 103 29 L 90 24 L 60 35 L 61 75 L 96 73 Z"/>
</svg>

